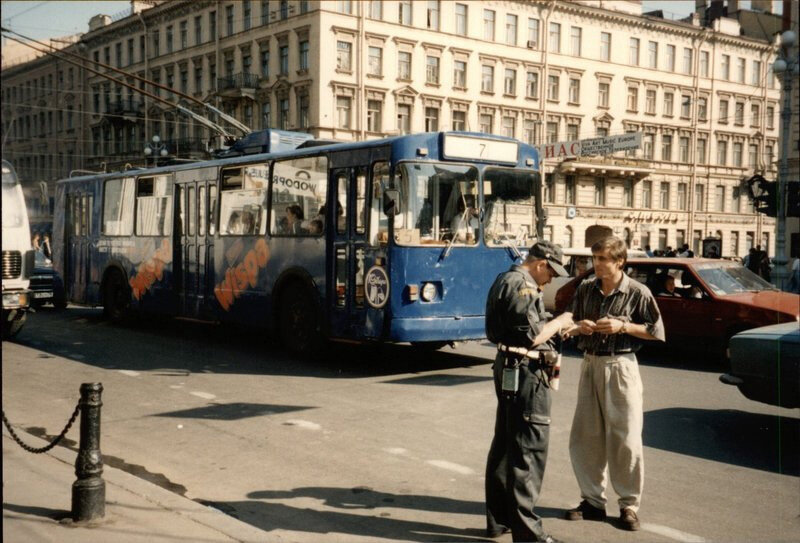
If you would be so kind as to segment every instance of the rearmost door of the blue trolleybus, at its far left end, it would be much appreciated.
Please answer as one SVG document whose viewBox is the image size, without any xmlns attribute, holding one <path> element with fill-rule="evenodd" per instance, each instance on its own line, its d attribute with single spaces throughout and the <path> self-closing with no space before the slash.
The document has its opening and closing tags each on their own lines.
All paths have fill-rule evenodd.
<svg viewBox="0 0 800 543">
<path fill-rule="evenodd" d="M 67 195 L 67 213 L 64 228 L 66 245 L 64 251 L 64 287 L 67 299 L 76 303 L 86 302 L 86 286 L 89 282 L 89 236 L 92 221 L 93 197 L 84 192 Z"/>
</svg>

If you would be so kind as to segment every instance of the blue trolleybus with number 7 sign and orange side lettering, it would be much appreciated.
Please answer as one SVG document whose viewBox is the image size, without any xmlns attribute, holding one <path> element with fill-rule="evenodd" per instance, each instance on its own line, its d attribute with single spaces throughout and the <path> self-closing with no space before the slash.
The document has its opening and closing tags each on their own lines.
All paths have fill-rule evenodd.
<svg viewBox="0 0 800 543">
<path fill-rule="evenodd" d="M 538 160 L 445 132 L 65 179 L 53 260 L 114 321 L 262 327 L 298 353 L 481 339 L 489 286 L 541 235 Z"/>
</svg>

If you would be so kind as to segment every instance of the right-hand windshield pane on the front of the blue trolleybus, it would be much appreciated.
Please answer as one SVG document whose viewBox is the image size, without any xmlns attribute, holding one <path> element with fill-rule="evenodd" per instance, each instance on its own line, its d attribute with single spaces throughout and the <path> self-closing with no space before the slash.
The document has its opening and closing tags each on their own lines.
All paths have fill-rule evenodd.
<svg viewBox="0 0 800 543">
<path fill-rule="evenodd" d="M 484 232 L 490 247 L 528 247 L 536 237 L 535 172 L 487 168 L 483 172 Z"/>
</svg>

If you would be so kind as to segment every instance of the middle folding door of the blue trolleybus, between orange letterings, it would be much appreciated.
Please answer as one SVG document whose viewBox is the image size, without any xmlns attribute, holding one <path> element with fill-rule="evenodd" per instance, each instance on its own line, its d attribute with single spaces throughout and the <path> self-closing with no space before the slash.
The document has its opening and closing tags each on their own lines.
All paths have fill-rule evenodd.
<svg viewBox="0 0 800 543">
<path fill-rule="evenodd" d="M 196 174 L 197 172 L 187 172 Z M 208 256 L 213 251 L 209 236 L 208 181 L 178 182 L 175 185 L 176 221 L 173 251 L 173 277 L 178 295 L 178 312 L 200 317 L 208 294 Z"/>
</svg>

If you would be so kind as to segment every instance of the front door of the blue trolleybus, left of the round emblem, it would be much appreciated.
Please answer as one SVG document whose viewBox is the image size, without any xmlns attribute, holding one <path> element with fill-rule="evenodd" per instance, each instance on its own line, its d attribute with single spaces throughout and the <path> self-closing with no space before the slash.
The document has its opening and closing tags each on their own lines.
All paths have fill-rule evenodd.
<svg viewBox="0 0 800 543">
<path fill-rule="evenodd" d="M 331 335 L 364 335 L 366 302 L 366 191 L 367 167 L 340 168 L 331 172 L 333 235 Z"/>
</svg>

